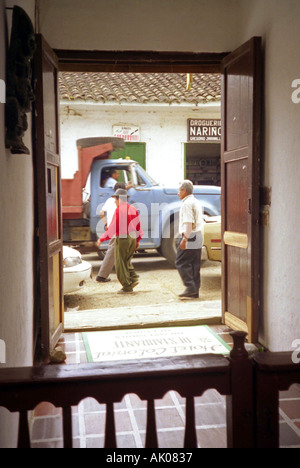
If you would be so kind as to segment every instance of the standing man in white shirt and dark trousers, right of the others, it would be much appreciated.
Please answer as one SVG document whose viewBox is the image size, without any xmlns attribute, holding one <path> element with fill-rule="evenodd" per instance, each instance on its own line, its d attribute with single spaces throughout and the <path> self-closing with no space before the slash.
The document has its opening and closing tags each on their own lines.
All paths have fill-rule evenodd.
<svg viewBox="0 0 300 468">
<path fill-rule="evenodd" d="M 181 299 L 199 297 L 201 251 L 203 245 L 203 208 L 193 195 L 193 183 L 185 180 L 178 190 L 182 200 L 179 213 L 179 232 L 181 241 L 177 249 L 176 268 L 185 290 L 179 294 Z"/>
</svg>

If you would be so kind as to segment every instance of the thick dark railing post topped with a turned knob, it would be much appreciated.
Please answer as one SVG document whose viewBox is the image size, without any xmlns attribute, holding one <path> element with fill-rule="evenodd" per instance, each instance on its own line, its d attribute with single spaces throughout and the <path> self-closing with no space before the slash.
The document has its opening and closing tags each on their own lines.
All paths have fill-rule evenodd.
<svg viewBox="0 0 300 468">
<path fill-rule="evenodd" d="M 254 448 L 253 365 L 245 349 L 246 333 L 231 332 L 231 395 L 227 396 L 228 448 Z"/>
</svg>

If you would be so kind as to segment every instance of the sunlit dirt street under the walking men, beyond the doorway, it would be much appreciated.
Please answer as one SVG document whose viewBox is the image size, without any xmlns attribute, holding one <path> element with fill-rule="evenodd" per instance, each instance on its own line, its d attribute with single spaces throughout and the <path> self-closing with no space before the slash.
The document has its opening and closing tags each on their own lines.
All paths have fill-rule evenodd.
<svg viewBox="0 0 300 468">
<path fill-rule="evenodd" d="M 101 260 L 95 254 L 83 255 L 93 266 L 93 279 L 78 292 L 65 296 L 65 311 L 91 310 L 139 305 L 156 305 L 181 302 L 178 298 L 184 290 L 179 274 L 156 251 L 137 253 L 133 259 L 139 284 L 133 294 L 117 294 L 121 285 L 115 272 L 108 283 L 96 282 Z M 206 260 L 201 267 L 201 289 L 199 300 L 221 299 L 221 264 Z"/>
</svg>

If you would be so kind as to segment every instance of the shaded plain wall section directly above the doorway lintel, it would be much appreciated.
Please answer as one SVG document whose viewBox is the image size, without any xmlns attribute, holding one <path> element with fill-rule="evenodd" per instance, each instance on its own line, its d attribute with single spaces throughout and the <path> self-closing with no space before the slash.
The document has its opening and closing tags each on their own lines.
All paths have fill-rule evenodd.
<svg viewBox="0 0 300 468">
<path fill-rule="evenodd" d="M 40 27 L 53 48 L 225 52 L 236 43 L 239 3 L 42 0 Z"/>
</svg>

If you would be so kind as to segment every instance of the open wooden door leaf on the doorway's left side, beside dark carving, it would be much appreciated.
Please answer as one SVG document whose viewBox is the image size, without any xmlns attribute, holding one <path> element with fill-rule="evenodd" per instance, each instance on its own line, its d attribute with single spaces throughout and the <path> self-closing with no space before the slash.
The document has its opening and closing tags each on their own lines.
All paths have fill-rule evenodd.
<svg viewBox="0 0 300 468">
<path fill-rule="evenodd" d="M 34 170 L 37 225 L 38 347 L 47 359 L 63 331 L 58 60 L 41 35 L 34 57 Z"/>
</svg>

